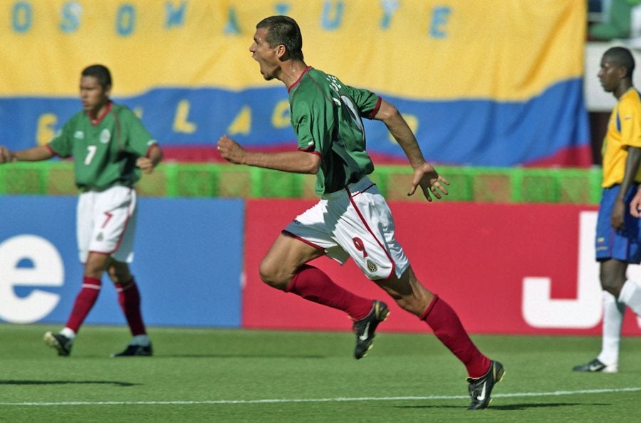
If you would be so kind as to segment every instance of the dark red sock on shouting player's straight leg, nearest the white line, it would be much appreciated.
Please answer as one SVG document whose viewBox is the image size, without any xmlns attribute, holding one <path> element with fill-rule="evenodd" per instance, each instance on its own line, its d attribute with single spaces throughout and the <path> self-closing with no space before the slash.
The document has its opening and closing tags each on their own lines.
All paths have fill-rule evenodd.
<svg viewBox="0 0 641 423">
<path fill-rule="evenodd" d="M 469 377 L 481 377 L 489 369 L 490 360 L 472 343 L 457 313 L 445 301 L 434 296 L 421 320 L 429 325 L 434 335 L 454 352 L 467 368 Z"/>
</svg>

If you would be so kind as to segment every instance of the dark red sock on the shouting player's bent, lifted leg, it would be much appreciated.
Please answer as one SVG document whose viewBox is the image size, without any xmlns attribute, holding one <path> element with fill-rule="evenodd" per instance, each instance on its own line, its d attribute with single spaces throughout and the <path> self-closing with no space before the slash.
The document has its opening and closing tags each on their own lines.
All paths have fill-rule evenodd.
<svg viewBox="0 0 641 423">
<path fill-rule="evenodd" d="M 291 279 L 285 292 L 295 293 L 308 301 L 338 308 L 354 320 L 364 318 L 372 309 L 372 300 L 357 296 L 336 285 L 325 272 L 303 264 Z"/>
</svg>

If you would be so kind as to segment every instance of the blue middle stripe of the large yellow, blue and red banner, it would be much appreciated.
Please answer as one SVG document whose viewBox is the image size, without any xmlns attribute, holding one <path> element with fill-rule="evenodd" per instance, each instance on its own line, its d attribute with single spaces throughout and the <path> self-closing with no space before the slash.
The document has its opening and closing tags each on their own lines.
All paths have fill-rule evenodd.
<svg viewBox="0 0 641 423">
<path fill-rule="evenodd" d="M 247 147 L 291 141 L 295 148 L 286 94 L 280 86 L 240 92 L 157 88 L 115 101 L 142 110 L 143 122 L 161 145 L 214 145 L 220 135 L 227 133 Z M 560 149 L 590 144 L 583 85 L 578 78 L 552 85 L 526 102 L 386 98 L 408 116 L 408 121 L 417 122 L 415 133 L 422 150 L 436 162 L 511 166 L 554 155 Z M 37 128 L 44 125 L 43 115 L 56 111 L 56 124 L 50 125 L 53 134 L 80 110 L 79 106 L 79 100 L 71 98 L 1 99 L 0 137 L 11 149 L 31 147 L 36 143 Z M 278 127 L 275 110 L 281 110 L 276 113 Z M 16 117 L 21 125 L 16 125 Z M 385 125 L 366 125 L 372 152 L 402 157 L 402 150 L 390 140 Z"/>
</svg>

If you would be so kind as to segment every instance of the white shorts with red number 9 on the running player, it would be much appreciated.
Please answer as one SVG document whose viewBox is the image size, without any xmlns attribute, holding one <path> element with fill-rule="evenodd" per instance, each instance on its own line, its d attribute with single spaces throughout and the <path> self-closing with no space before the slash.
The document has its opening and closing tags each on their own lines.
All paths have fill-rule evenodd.
<svg viewBox="0 0 641 423">
<path fill-rule="evenodd" d="M 324 249 L 343 264 L 351 257 L 372 280 L 400 278 L 410 266 L 394 236 L 392 212 L 368 177 L 331 194 L 300 214 L 283 232 Z"/>
</svg>

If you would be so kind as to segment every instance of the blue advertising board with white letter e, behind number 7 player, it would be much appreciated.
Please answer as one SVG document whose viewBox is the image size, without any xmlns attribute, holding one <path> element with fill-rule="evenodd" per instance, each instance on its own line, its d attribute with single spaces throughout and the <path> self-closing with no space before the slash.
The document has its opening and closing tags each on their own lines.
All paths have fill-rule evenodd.
<svg viewBox="0 0 641 423">
<path fill-rule="evenodd" d="M 62 325 L 83 281 L 76 196 L 0 196 L 0 322 Z M 241 325 L 243 199 L 140 198 L 131 265 L 148 325 Z M 124 316 L 106 276 L 89 324 Z"/>
</svg>

